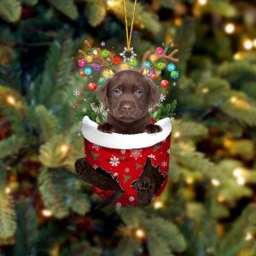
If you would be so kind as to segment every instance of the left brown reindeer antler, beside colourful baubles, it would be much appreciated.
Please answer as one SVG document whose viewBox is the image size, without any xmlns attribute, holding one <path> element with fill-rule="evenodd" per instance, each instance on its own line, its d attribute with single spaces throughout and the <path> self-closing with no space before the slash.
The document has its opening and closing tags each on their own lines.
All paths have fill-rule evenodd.
<svg viewBox="0 0 256 256">
<path fill-rule="evenodd" d="M 90 49 L 90 43 L 88 40 L 84 41 L 84 44 Z M 84 50 L 79 49 L 79 53 L 84 55 L 84 59 L 86 58 L 86 54 L 84 53 Z M 101 64 L 101 67 L 107 67 L 107 68 L 111 68 L 113 69 L 113 72 L 116 72 L 116 67 L 114 67 L 113 65 L 113 54 L 112 53 L 108 53 L 108 58 L 110 61 L 107 61 L 106 59 L 103 58 L 102 56 L 102 49 L 100 48 L 96 48 L 96 52 L 95 50 L 91 51 L 91 56 L 93 57 L 93 59 L 97 62 L 99 62 L 99 64 Z"/>
</svg>

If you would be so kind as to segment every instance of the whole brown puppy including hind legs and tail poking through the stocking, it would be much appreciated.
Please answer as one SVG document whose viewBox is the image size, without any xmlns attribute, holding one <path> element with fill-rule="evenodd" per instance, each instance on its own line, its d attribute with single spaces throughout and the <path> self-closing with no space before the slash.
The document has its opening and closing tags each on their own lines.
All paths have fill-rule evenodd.
<svg viewBox="0 0 256 256">
<path fill-rule="evenodd" d="M 113 78 L 108 79 L 105 84 L 97 91 L 99 100 L 103 103 L 104 108 L 108 108 L 107 122 L 98 125 L 97 129 L 102 132 L 116 132 L 122 134 L 136 133 L 155 133 L 162 131 L 159 125 L 151 123 L 148 113 L 149 104 L 154 105 L 159 102 L 160 92 L 151 79 L 145 77 L 137 71 L 125 70 L 114 74 Z M 148 165 L 147 165 L 148 166 Z M 79 159 L 75 163 L 76 172 L 87 182 L 96 187 L 106 190 L 107 187 L 113 188 L 115 192 L 96 206 L 96 209 L 107 206 L 125 193 L 116 180 L 107 174 L 101 168 L 96 170 L 90 166 L 85 159 Z M 101 169 L 101 170 L 98 170 Z M 94 178 L 91 178 L 94 176 Z M 104 180 L 104 184 L 102 184 Z M 160 181 L 151 180 L 151 183 L 157 184 Z M 143 182 L 143 177 L 139 181 L 137 188 L 137 203 L 145 206 L 145 202 L 150 203 L 154 193 L 145 193 L 148 189 L 148 183 Z M 143 185 L 147 188 L 143 189 Z M 154 188 L 154 185 L 151 186 Z M 141 202 L 140 202 L 141 200 Z"/>
</svg>

